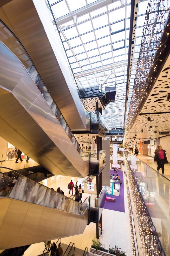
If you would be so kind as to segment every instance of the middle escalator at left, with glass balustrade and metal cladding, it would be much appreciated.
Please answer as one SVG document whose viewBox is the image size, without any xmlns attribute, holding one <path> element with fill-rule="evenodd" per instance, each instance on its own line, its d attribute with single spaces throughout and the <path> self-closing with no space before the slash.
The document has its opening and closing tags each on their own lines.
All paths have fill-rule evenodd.
<svg viewBox="0 0 170 256">
<path fill-rule="evenodd" d="M 86 177 L 89 153 L 80 148 L 24 47 L 2 21 L 0 30 L 1 136 L 52 174 Z"/>
</svg>

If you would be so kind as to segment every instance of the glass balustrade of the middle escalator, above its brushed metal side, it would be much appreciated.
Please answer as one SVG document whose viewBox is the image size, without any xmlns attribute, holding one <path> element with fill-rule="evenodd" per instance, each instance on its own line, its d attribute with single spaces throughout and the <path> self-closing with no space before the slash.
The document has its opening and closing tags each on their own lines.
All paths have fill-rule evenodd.
<svg viewBox="0 0 170 256">
<path fill-rule="evenodd" d="M 30 56 L 28 55 L 27 51 L 25 50 L 24 46 L 19 42 L 16 36 L 12 33 L 12 31 L 0 20 L 0 40 L 4 43 L 21 61 L 24 67 L 27 69 L 30 77 L 34 81 L 35 85 L 37 86 L 38 90 L 41 92 L 42 96 L 44 97 L 45 101 L 47 102 L 48 106 L 51 108 L 52 112 L 60 122 L 61 126 L 63 127 L 64 131 L 67 133 L 68 137 L 74 144 L 77 151 L 83 157 L 83 160 L 89 159 L 89 154 L 84 153 L 79 143 L 77 142 L 76 138 L 74 137 L 70 127 L 66 123 L 63 115 L 61 114 L 59 108 L 57 107 L 55 101 L 53 100 L 50 92 L 48 91 L 47 87 L 45 86 L 40 74 L 37 72 Z"/>
</svg>

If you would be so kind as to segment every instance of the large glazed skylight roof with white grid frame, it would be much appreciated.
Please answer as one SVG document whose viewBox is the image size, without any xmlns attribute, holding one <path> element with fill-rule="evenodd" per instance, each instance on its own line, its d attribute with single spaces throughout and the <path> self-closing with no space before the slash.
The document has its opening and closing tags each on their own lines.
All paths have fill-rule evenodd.
<svg viewBox="0 0 170 256">
<path fill-rule="evenodd" d="M 109 103 L 103 111 L 110 128 L 122 128 L 124 123 L 130 3 L 130 0 L 50 0 L 79 85 L 82 88 L 99 85 L 101 88 L 103 80 L 113 72 L 102 86 L 104 90 L 105 86 L 113 86 L 116 82 L 115 102 Z M 148 0 L 139 1 L 127 115 L 147 5 Z"/>
</svg>

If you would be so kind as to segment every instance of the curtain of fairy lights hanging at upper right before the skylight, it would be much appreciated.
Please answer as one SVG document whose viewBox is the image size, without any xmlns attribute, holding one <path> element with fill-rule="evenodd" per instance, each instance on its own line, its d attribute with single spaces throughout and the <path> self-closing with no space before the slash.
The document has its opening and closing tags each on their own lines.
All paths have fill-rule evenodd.
<svg viewBox="0 0 170 256">
<path fill-rule="evenodd" d="M 169 27 L 169 24 L 166 24 L 170 15 L 169 10 L 167 0 L 150 0 L 148 3 L 123 145 L 125 145 L 130 129 L 139 114 L 143 100 L 147 98 L 151 82 L 155 82 L 156 73 L 159 73 L 157 63 L 162 62 L 161 56 L 166 48 L 170 32 L 165 34 L 166 39 L 161 42 L 165 27 Z M 150 76 L 151 68 L 153 68 L 153 72 Z"/>
</svg>

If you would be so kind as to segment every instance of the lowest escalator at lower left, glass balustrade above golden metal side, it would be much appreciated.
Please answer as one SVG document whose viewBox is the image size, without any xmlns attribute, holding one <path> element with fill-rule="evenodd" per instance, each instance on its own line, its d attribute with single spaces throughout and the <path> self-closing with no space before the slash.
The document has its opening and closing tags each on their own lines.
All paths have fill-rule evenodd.
<svg viewBox="0 0 170 256">
<path fill-rule="evenodd" d="M 88 207 L 88 197 L 80 204 L 15 171 L 0 172 L 0 249 L 82 234 Z"/>
</svg>

